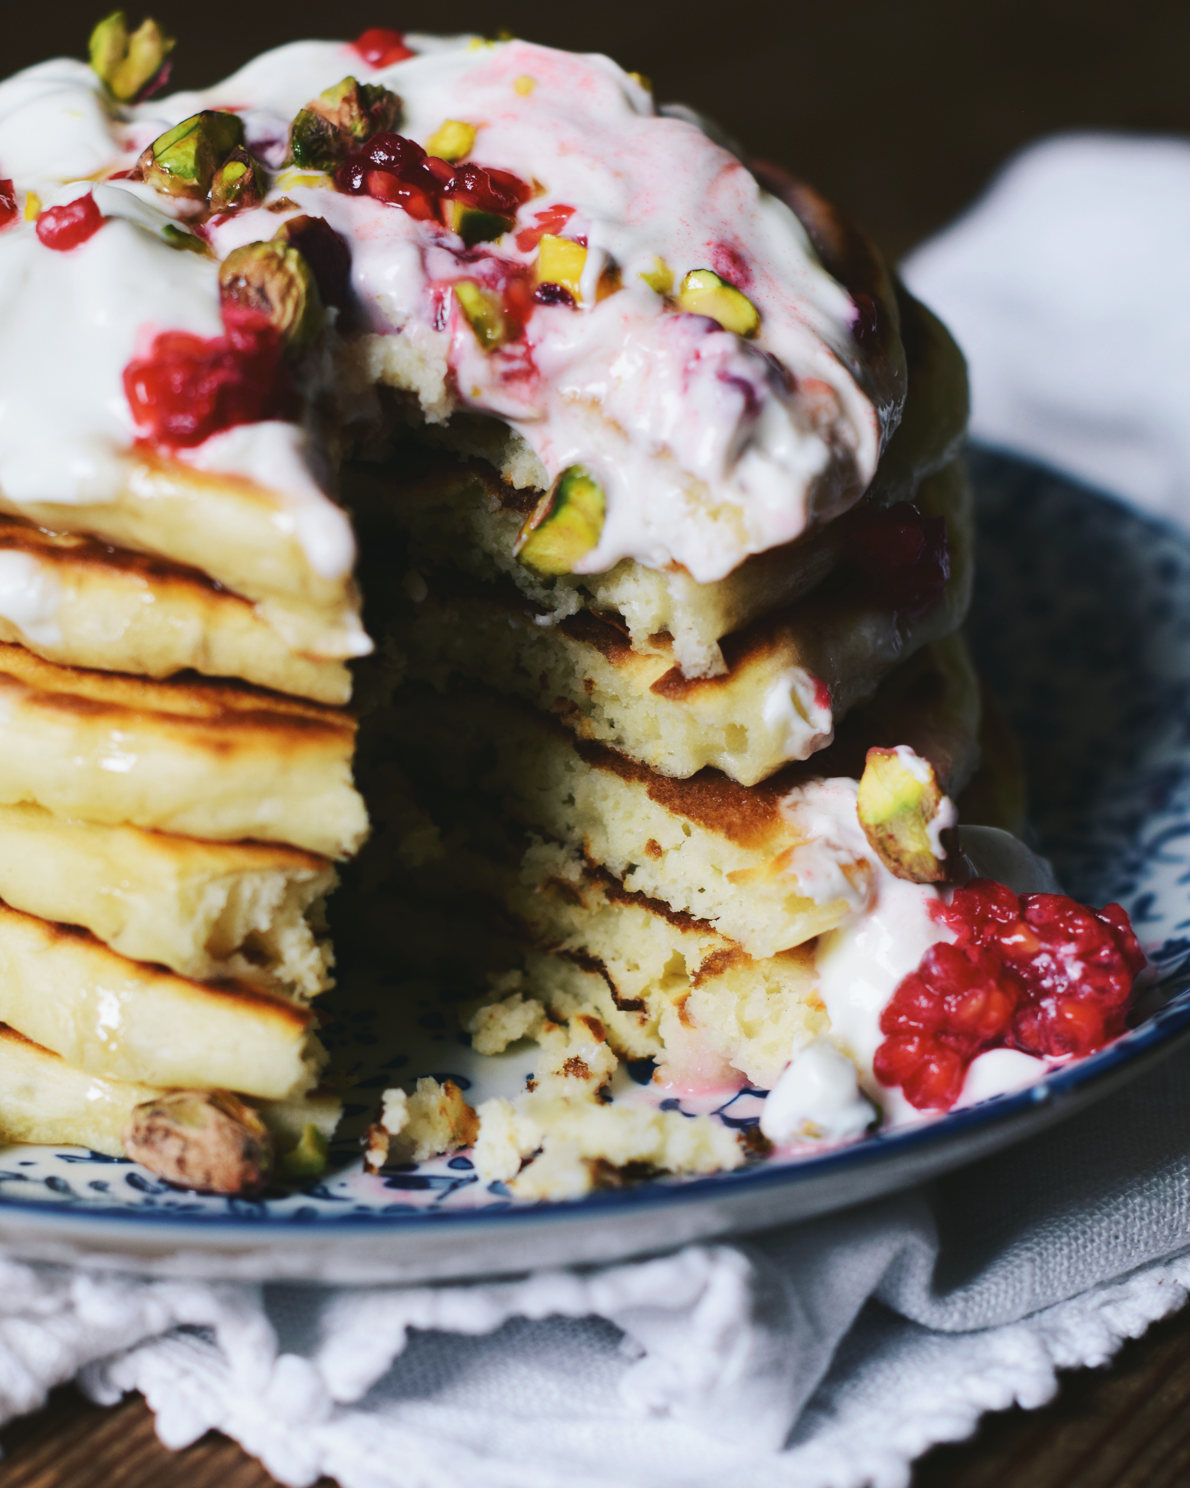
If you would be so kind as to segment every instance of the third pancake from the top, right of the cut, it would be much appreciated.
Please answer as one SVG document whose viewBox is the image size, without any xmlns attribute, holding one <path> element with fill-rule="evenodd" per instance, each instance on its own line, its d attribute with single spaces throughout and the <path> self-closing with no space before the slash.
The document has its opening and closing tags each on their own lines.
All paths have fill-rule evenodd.
<svg viewBox="0 0 1190 1488">
<path fill-rule="evenodd" d="M 714 769 L 657 775 L 494 693 L 409 692 L 387 723 L 411 778 L 454 793 L 477 786 L 519 826 L 763 958 L 851 909 L 848 893 L 823 899 L 815 853 L 797 856 L 806 835 L 788 809 L 791 792 L 858 780 L 869 747 L 898 744 L 930 759 L 945 789 L 961 790 L 979 757 L 979 683 L 961 638 L 931 646 L 852 714 L 830 748 L 753 787 Z M 812 891 L 800 890 L 803 879 Z"/>
</svg>

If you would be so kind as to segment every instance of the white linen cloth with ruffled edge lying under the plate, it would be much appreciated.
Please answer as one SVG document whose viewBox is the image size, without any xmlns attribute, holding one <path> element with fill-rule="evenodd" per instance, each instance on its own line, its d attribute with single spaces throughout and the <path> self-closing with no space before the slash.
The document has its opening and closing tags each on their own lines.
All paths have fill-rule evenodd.
<svg viewBox="0 0 1190 1488">
<path fill-rule="evenodd" d="M 1025 155 L 906 266 L 983 439 L 1183 515 L 1190 146 Z M 1108 417 L 1111 415 L 1111 417 Z M 1190 1289 L 1190 1054 L 931 1189 L 660 1259 L 351 1292 L 0 1260 L 0 1418 L 77 1378 L 344 1488 L 897 1488 Z"/>
</svg>

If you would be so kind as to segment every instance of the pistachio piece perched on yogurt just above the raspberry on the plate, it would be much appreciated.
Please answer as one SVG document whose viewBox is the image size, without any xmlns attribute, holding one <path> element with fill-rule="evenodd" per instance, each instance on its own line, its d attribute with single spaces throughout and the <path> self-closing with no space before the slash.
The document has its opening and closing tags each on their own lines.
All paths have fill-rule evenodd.
<svg viewBox="0 0 1190 1488">
<path fill-rule="evenodd" d="M 857 812 L 864 836 L 885 868 L 915 884 L 940 884 L 949 870 L 940 830 L 955 811 L 928 759 L 907 745 L 870 748 L 860 780 Z"/>
</svg>

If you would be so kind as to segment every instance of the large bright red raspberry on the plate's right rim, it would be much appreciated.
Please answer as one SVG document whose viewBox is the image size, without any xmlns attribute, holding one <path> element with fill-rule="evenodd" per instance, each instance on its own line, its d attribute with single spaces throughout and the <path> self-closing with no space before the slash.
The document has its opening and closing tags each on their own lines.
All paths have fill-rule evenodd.
<svg viewBox="0 0 1190 1488">
<path fill-rule="evenodd" d="M 1123 1033 L 1145 958 L 1119 905 L 1017 896 L 976 878 L 939 918 L 956 940 L 931 945 L 897 987 L 873 1061 L 876 1079 L 910 1106 L 949 1110 L 988 1049 L 1080 1058 Z"/>
</svg>

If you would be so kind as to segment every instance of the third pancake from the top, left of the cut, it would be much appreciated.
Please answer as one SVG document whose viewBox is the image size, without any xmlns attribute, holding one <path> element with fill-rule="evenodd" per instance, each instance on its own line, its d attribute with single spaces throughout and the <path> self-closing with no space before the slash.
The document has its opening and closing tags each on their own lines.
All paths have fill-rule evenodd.
<svg viewBox="0 0 1190 1488">
<path fill-rule="evenodd" d="M 367 830 L 356 723 L 248 686 L 147 682 L 0 646 L 0 804 L 326 857 Z"/>
</svg>

